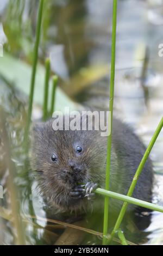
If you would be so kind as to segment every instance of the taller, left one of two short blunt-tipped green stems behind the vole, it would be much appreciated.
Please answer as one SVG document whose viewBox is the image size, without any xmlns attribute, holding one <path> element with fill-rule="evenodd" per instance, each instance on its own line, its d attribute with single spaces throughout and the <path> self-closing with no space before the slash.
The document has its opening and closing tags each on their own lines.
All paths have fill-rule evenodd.
<svg viewBox="0 0 163 256">
<path fill-rule="evenodd" d="M 50 60 L 49 58 L 45 61 L 45 86 L 44 86 L 44 99 L 43 99 L 43 120 L 46 120 L 48 117 L 48 90 L 49 90 L 49 76 L 50 76 Z"/>
</svg>

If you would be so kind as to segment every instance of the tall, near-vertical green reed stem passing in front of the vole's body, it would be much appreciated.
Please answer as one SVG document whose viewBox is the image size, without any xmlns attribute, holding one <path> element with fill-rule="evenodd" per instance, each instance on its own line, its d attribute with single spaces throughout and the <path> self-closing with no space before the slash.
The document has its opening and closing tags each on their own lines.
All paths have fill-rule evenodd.
<svg viewBox="0 0 163 256">
<path fill-rule="evenodd" d="M 113 0 L 112 9 L 112 45 L 111 45 L 111 75 L 110 75 L 110 101 L 109 101 L 109 111 L 111 113 L 111 130 L 108 136 L 108 146 L 107 146 L 107 158 L 106 158 L 106 179 L 105 179 L 105 189 L 109 190 L 110 183 L 110 162 L 111 162 L 111 136 L 112 136 L 112 113 L 113 113 L 113 103 L 114 103 L 114 80 L 115 80 L 115 52 L 116 52 L 116 20 L 117 20 L 117 0 Z M 109 197 L 105 197 L 104 203 L 104 224 L 103 224 L 103 245 L 106 244 L 105 235 L 108 233 L 108 212 L 109 212 Z"/>
</svg>

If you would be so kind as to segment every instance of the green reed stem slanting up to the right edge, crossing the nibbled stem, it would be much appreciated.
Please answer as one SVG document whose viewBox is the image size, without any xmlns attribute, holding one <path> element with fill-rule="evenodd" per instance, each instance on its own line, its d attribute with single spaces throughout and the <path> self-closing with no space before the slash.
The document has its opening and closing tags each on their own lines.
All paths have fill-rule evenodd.
<svg viewBox="0 0 163 256">
<path fill-rule="evenodd" d="M 140 162 L 140 164 L 139 164 L 139 167 L 138 167 L 137 170 L 136 170 L 136 173 L 135 173 L 135 175 L 134 175 L 133 181 L 131 182 L 129 191 L 128 191 L 128 193 L 127 193 L 127 196 L 128 196 L 128 197 L 131 197 L 132 194 L 133 194 L 133 192 L 134 192 L 134 188 L 135 188 L 135 186 L 136 186 L 137 180 L 139 179 L 139 176 L 140 176 L 140 174 L 141 174 L 141 172 L 142 172 L 142 170 L 143 170 L 143 167 L 145 166 L 145 163 L 146 163 L 146 161 L 147 161 L 147 159 L 148 159 L 148 156 L 149 156 L 149 154 L 150 154 L 150 152 L 151 152 L 151 150 L 152 150 L 152 148 L 153 148 L 153 145 L 154 145 L 154 143 L 155 143 L 155 141 L 156 141 L 156 138 L 159 136 L 159 133 L 160 133 L 160 131 L 161 131 L 161 129 L 162 129 L 162 126 L 163 126 L 163 117 L 161 118 L 161 121 L 160 121 L 160 123 L 159 123 L 159 125 L 158 125 L 156 131 L 154 132 L 154 135 L 153 135 L 153 137 L 152 137 L 152 139 L 151 139 L 151 142 L 149 142 L 149 145 L 148 145 L 148 147 L 147 147 L 147 149 L 146 149 L 146 152 L 145 152 L 145 154 L 144 154 L 143 157 L 142 157 L 142 160 L 141 160 L 141 162 Z M 116 221 L 116 224 L 115 224 L 115 227 L 114 227 L 114 229 L 112 230 L 112 233 L 111 233 L 109 242 L 112 240 L 112 237 L 114 237 L 114 235 L 115 235 L 115 233 L 116 233 L 116 230 L 118 230 L 118 228 L 120 227 L 121 222 L 122 222 L 123 217 L 124 217 L 124 214 L 125 214 L 125 212 L 126 212 L 126 210 L 127 210 L 127 206 L 128 206 L 128 203 L 127 203 L 127 202 L 123 203 L 122 209 L 121 209 L 121 211 L 120 211 L 120 215 L 118 216 L 117 221 Z"/>
</svg>

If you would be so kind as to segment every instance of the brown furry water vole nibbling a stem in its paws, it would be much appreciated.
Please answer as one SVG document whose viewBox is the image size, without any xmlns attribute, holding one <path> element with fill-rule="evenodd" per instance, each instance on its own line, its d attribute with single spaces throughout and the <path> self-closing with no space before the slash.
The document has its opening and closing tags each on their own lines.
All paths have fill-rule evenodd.
<svg viewBox="0 0 163 256">
<path fill-rule="evenodd" d="M 92 189 L 96 184 L 105 187 L 108 137 L 95 130 L 54 131 L 52 124 L 53 119 L 36 124 L 33 129 L 32 167 L 38 172 L 41 190 L 60 211 L 88 209 Z M 126 194 L 145 146 L 120 120 L 114 119 L 112 130 L 110 190 Z M 152 177 L 152 162 L 148 159 L 133 197 L 151 202 Z M 110 200 L 112 210 L 122 205 Z M 96 206 L 101 210 L 99 200 Z"/>
</svg>

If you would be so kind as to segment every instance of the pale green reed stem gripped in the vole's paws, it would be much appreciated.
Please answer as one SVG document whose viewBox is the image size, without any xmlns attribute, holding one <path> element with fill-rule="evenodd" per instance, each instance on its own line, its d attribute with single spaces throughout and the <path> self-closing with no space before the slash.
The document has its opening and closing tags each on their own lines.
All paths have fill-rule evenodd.
<svg viewBox="0 0 163 256">
<path fill-rule="evenodd" d="M 116 192 L 104 190 L 103 188 L 97 188 L 95 193 L 101 194 L 102 196 L 105 196 L 105 197 L 111 197 L 117 200 L 127 202 L 129 204 L 134 204 L 137 206 L 141 206 L 143 208 L 147 208 L 153 211 L 159 211 L 163 213 L 163 206 L 152 204 L 134 197 L 125 196 L 124 194 L 119 194 Z"/>
</svg>

